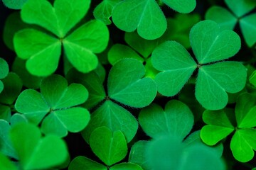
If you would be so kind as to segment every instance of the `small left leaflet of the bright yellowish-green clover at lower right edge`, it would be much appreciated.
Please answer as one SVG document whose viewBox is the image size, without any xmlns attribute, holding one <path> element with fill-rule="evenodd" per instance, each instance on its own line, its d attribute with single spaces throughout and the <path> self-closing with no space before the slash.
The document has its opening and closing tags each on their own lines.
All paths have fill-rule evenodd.
<svg viewBox="0 0 256 170">
<path fill-rule="evenodd" d="M 218 121 L 217 121 L 218 120 Z M 235 130 L 225 111 L 205 111 L 203 121 L 207 124 L 201 129 L 201 139 L 207 145 L 215 145 Z"/>
</svg>

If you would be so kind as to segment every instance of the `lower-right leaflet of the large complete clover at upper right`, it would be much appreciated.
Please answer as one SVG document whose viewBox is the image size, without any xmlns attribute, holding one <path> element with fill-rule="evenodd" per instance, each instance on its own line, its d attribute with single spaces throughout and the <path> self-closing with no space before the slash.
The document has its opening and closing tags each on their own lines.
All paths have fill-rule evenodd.
<svg viewBox="0 0 256 170">
<path fill-rule="evenodd" d="M 245 87 L 247 72 L 239 62 L 217 62 L 199 68 L 196 99 L 204 108 L 219 110 L 228 103 L 228 93 Z"/>
</svg>

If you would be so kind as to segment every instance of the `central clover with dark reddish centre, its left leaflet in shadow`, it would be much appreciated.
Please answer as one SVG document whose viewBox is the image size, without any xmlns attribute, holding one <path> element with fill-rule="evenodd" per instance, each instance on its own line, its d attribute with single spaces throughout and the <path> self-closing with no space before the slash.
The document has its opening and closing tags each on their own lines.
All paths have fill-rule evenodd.
<svg viewBox="0 0 256 170">
<path fill-rule="evenodd" d="M 93 130 L 101 126 L 106 126 L 113 132 L 120 130 L 127 142 L 132 140 L 136 135 L 138 123 L 136 118 L 122 106 L 143 108 L 154 100 L 156 83 L 144 75 L 145 68 L 138 60 L 120 60 L 110 69 L 106 94 L 102 81 L 95 72 L 68 74 L 70 81 L 84 85 L 89 91 L 89 98 L 84 106 L 93 111 L 90 123 L 82 131 L 82 136 L 88 143 Z"/>
</svg>

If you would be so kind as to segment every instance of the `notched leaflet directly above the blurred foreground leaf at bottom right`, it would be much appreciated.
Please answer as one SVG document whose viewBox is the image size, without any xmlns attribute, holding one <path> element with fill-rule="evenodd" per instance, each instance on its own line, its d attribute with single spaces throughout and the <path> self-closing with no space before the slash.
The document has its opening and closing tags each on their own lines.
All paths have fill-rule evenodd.
<svg viewBox="0 0 256 170">
<path fill-rule="evenodd" d="M 193 113 L 188 106 L 176 100 L 166 103 L 164 110 L 152 104 L 139 113 L 139 124 L 150 137 L 174 135 L 182 140 L 193 127 Z"/>
</svg>

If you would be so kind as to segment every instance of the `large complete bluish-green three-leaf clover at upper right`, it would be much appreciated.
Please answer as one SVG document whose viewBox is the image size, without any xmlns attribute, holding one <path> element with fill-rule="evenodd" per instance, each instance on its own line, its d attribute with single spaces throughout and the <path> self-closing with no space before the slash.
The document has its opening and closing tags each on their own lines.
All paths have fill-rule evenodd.
<svg viewBox="0 0 256 170">
<path fill-rule="evenodd" d="M 222 61 L 240 50 L 240 38 L 232 30 L 220 30 L 214 21 L 201 21 L 190 32 L 191 47 L 197 62 L 175 41 L 166 41 L 151 55 L 159 70 L 155 81 L 160 94 L 175 96 L 198 68 L 196 99 L 204 108 L 218 110 L 228 103 L 228 93 L 245 86 L 247 72 L 240 62 Z"/>
</svg>

